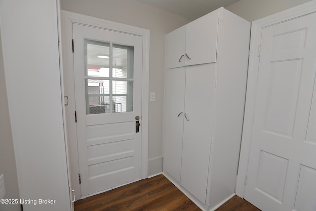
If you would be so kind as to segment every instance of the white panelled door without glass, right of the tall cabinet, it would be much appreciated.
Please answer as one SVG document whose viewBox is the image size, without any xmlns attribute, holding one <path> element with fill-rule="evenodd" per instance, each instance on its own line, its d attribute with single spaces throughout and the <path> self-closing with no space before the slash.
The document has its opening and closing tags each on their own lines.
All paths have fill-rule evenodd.
<svg viewBox="0 0 316 211">
<path fill-rule="evenodd" d="M 263 211 L 316 211 L 315 20 L 262 30 L 245 199 Z"/>
</svg>

